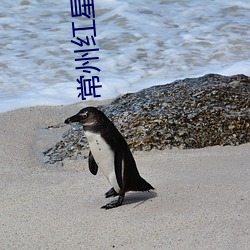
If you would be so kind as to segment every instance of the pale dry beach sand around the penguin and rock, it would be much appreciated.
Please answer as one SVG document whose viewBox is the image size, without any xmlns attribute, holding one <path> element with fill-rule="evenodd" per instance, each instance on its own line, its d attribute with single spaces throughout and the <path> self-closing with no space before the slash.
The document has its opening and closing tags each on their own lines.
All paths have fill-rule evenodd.
<svg viewBox="0 0 250 250">
<path fill-rule="evenodd" d="M 82 107 L 0 114 L 0 249 L 250 248 L 250 144 L 135 152 L 155 192 L 103 210 L 110 187 L 87 160 L 41 162 L 68 127 L 44 128 Z"/>
</svg>

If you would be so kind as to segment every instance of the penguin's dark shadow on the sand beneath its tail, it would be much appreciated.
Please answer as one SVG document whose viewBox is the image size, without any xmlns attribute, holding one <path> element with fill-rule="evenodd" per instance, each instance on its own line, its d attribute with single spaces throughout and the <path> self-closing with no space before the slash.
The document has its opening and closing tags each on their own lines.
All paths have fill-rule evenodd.
<svg viewBox="0 0 250 250">
<path fill-rule="evenodd" d="M 143 204 L 149 199 L 153 199 L 157 197 L 157 193 L 155 191 L 145 191 L 145 192 L 131 192 L 127 193 L 124 199 L 123 205 L 134 204 L 134 208 Z"/>
</svg>

